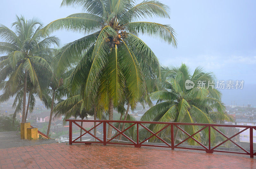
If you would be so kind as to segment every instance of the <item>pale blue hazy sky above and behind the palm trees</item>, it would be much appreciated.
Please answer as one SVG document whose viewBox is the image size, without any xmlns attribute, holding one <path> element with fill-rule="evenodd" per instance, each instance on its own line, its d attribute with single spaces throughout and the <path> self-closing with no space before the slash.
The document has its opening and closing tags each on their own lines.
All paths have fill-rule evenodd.
<svg viewBox="0 0 256 169">
<path fill-rule="evenodd" d="M 22 14 L 28 19 L 37 17 L 46 25 L 55 19 L 81 12 L 79 9 L 60 8 L 61 2 L 62 0 L 1 0 L 0 24 L 10 27 L 15 14 Z M 170 6 L 171 19 L 149 20 L 171 25 L 177 33 L 177 48 L 150 37 L 141 37 L 155 52 L 159 61 L 164 65 L 177 66 L 183 62 L 192 70 L 203 66 L 206 71 L 214 72 L 220 80 L 244 80 L 243 91 L 223 90 L 223 100 L 226 104 L 232 99 L 238 100 L 240 105 L 248 102 L 256 104 L 256 90 L 253 88 L 253 84 L 256 84 L 256 1 L 162 2 Z M 66 31 L 59 31 L 54 35 L 60 37 L 62 44 L 83 36 Z"/>
</svg>

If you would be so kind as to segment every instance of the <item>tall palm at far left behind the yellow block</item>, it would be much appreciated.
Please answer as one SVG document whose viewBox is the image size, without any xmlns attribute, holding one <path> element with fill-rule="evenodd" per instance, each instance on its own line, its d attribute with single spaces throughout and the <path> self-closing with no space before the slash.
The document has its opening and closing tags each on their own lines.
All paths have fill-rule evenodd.
<svg viewBox="0 0 256 169">
<path fill-rule="evenodd" d="M 45 37 L 41 31 L 42 23 L 37 18 L 26 20 L 23 16 L 16 16 L 12 26 L 15 32 L 0 25 L 0 37 L 4 40 L 0 42 L 0 53 L 5 54 L 0 59 L 0 83 L 9 78 L 4 86 L 5 96 L 9 97 L 17 93 L 17 86 L 23 81 L 22 123 L 24 123 L 28 78 L 41 97 L 38 76 L 47 71 L 51 72 L 51 67 L 45 59 L 52 52 L 50 46 L 59 45 L 59 39 L 55 36 Z"/>
</svg>

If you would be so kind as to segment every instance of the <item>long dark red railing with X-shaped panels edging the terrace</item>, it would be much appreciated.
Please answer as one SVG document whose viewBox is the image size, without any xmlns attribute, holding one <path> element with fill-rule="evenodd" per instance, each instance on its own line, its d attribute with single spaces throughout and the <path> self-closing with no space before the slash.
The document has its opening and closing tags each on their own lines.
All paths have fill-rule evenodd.
<svg viewBox="0 0 256 169">
<path fill-rule="evenodd" d="M 245 154 L 245 155 L 250 155 L 251 158 L 253 158 L 254 155 L 256 155 L 256 152 L 253 152 L 253 129 L 256 130 L 256 126 L 244 126 L 244 125 L 229 125 L 229 124 L 200 124 L 200 123 L 178 123 L 178 122 L 156 122 L 156 121 L 109 121 L 109 120 L 66 120 L 69 121 L 69 144 L 71 145 L 72 143 L 85 143 L 85 144 L 91 144 L 91 143 L 102 143 L 103 145 L 106 144 L 122 144 L 122 145 L 134 145 L 135 147 L 141 147 L 141 146 L 153 146 L 153 147 L 167 147 L 167 148 L 171 148 L 172 150 L 174 150 L 175 148 L 177 149 L 189 149 L 189 150 L 202 150 L 202 151 L 206 151 L 207 153 L 213 153 L 213 152 L 225 152 L 225 153 L 235 153 L 235 154 Z M 92 129 L 86 130 L 83 127 L 81 127 L 77 122 L 99 122 L 95 127 L 99 126 L 101 123 L 103 123 L 103 140 L 101 140 L 99 137 L 94 136 L 90 131 L 92 131 L 95 127 L 93 127 Z M 124 129 L 124 131 L 120 131 L 119 129 L 117 129 L 114 125 L 112 125 L 111 123 L 131 123 L 131 126 L 129 126 L 128 128 Z M 81 128 L 82 130 L 85 131 L 84 134 L 82 134 L 81 136 L 77 137 L 75 140 L 72 140 L 72 123 L 76 124 L 76 126 L 78 126 L 79 128 Z M 112 138 L 107 138 L 107 128 L 106 126 L 110 125 L 113 127 L 113 129 L 115 129 L 118 134 L 113 136 Z M 150 129 L 148 129 L 145 125 L 143 124 L 165 124 L 164 128 L 162 128 L 161 130 L 157 131 L 156 133 L 154 133 L 153 131 L 151 131 Z M 137 126 L 137 141 L 133 141 L 130 137 L 126 136 L 124 134 L 124 132 L 128 129 L 130 129 L 132 126 Z M 199 129 L 196 133 L 194 133 L 193 135 L 189 135 L 185 130 L 183 130 L 182 128 L 180 128 L 180 125 L 194 125 L 194 126 L 202 126 L 202 129 Z M 146 139 L 144 139 L 143 141 L 139 141 L 139 126 L 145 128 L 146 130 L 148 130 L 152 135 Z M 171 144 L 167 143 L 166 141 L 164 141 L 160 136 L 158 136 L 157 134 L 160 133 L 161 131 L 163 131 L 164 129 L 166 129 L 167 127 L 171 126 Z M 173 132 L 173 128 L 174 126 L 178 129 L 180 129 L 183 133 L 185 133 L 186 135 L 188 135 L 188 138 L 184 139 L 183 141 L 181 141 L 180 143 L 174 145 L 174 132 Z M 228 137 L 225 134 L 223 134 L 219 129 L 217 129 L 218 127 L 235 127 L 235 128 L 244 128 L 243 130 L 239 131 L 238 133 L 236 133 L 235 135 Z M 193 136 L 195 136 L 196 134 L 198 134 L 200 131 L 207 129 L 208 128 L 208 139 L 209 139 L 209 145 L 206 147 L 204 146 L 202 143 L 200 143 L 198 140 L 196 140 Z M 227 138 L 225 141 L 219 143 L 218 145 L 216 145 L 215 147 L 211 147 L 211 128 L 216 130 L 217 132 L 219 132 L 222 136 L 224 136 L 225 138 Z M 240 133 L 244 132 L 245 130 L 249 129 L 250 130 L 250 152 L 248 152 L 247 150 L 245 150 L 243 147 L 241 147 L 240 145 L 238 145 L 236 142 L 234 142 L 233 140 L 231 140 L 232 138 L 234 138 L 235 136 L 239 135 Z M 84 136 L 85 134 L 90 134 L 92 137 L 94 137 L 95 139 L 97 139 L 98 141 L 76 141 L 79 138 L 81 138 L 82 136 Z M 123 135 L 125 138 L 127 138 L 131 143 L 117 143 L 117 142 L 110 142 L 111 140 L 113 140 L 114 138 L 116 138 L 119 135 Z M 159 140 L 161 140 L 163 143 L 165 143 L 166 145 L 153 145 L 153 144 L 147 144 L 145 143 L 147 140 L 149 140 L 151 137 L 156 136 Z M 196 143 L 198 143 L 199 145 L 201 145 L 203 148 L 190 148 L 190 147 L 180 147 L 179 145 L 185 141 L 187 141 L 189 138 L 193 139 Z M 108 139 L 108 140 L 107 140 Z M 217 147 L 219 147 L 220 145 L 222 145 L 223 143 L 227 142 L 227 141 L 231 141 L 232 143 L 234 143 L 237 147 L 239 147 L 241 150 L 243 150 L 244 152 L 236 152 L 236 151 L 224 151 L 224 150 L 216 150 Z M 143 144 L 142 144 L 143 143 Z"/>
</svg>

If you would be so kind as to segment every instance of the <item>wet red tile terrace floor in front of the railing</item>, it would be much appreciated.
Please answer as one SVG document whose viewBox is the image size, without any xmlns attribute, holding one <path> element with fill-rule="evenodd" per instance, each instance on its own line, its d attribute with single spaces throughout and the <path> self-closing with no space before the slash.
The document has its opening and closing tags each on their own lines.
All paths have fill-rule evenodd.
<svg viewBox="0 0 256 169">
<path fill-rule="evenodd" d="M 256 168 L 256 158 L 66 143 L 0 149 L 0 168 Z"/>
</svg>

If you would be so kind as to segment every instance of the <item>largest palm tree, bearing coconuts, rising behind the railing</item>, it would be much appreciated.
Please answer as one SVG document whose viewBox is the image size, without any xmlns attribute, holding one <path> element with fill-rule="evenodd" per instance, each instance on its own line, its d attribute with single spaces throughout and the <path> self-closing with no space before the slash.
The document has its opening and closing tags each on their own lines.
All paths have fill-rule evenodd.
<svg viewBox="0 0 256 169">
<path fill-rule="evenodd" d="M 124 98 L 124 88 L 130 98 L 130 105 L 145 94 L 146 85 L 140 62 L 148 62 L 159 72 L 159 62 L 152 50 L 138 34 L 160 38 L 176 46 L 175 33 L 171 26 L 153 22 L 138 21 L 140 18 L 170 18 L 168 6 L 158 1 L 143 1 L 134 4 L 130 0 L 63 0 L 61 6 L 81 7 L 88 13 L 76 13 L 52 21 L 46 31 L 60 29 L 79 33 L 92 33 L 65 45 L 57 55 L 58 72 L 77 64 L 73 86 L 82 86 L 84 107 L 89 109 L 96 96 L 113 119 L 113 109 Z M 91 62 L 87 76 L 82 75 L 86 60 Z M 139 62 L 140 60 L 140 62 Z M 110 137 L 112 127 L 108 127 Z"/>
</svg>

